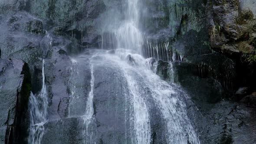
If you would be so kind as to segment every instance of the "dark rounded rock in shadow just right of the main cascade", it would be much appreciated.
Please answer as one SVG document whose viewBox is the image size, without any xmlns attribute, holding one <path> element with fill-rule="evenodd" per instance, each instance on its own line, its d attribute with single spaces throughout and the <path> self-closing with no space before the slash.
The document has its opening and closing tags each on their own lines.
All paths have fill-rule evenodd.
<svg viewBox="0 0 256 144">
<path fill-rule="evenodd" d="M 175 62 L 174 82 L 182 85 L 196 105 L 208 109 L 207 105 L 220 101 L 224 95 L 224 87 L 215 76 L 211 77 L 207 68 L 195 66 L 187 62 Z M 217 70 L 217 69 L 216 69 Z"/>
</svg>

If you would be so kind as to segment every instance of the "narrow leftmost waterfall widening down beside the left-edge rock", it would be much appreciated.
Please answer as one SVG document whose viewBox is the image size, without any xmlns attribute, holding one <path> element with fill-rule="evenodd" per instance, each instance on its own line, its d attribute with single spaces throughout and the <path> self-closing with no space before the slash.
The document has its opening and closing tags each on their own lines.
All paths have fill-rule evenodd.
<svg viewBox="0 0 256 144">
<path fill-rule="evenodd" d="M 48 113 L 48 98 L 45 85 L 44 75 L 44 59 L 42 69 L 42 90 L 38 95 L 33 95 L 31 92 L 29 99 L 30 110 L 30 129 L 29 129 L 29 144 L 41 144 L 44 134 L 44 124 L 47 122 Z"/>
</svg>

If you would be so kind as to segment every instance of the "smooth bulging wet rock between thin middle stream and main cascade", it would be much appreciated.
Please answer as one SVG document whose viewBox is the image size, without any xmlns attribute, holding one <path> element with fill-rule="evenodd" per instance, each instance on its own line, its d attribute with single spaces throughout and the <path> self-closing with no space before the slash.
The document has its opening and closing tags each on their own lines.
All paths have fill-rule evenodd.
<svg viewBox="0 0 256 144">
<path fill-rule="evenodd" d="M 111 62 L 100 64 L 101 60 L 94 62 L 94 112 L 97 124 L 96 143 L 120 144 L 131 143 L 129 131 L 130 123 L 127 121 L 131 110 L 127 82 L 120 69 Z M 104 75 L 109 75 L 105 77 Z M 128 98 L 127 100 L 125 100 Z M 126 138 L 126 139 L 125 139 Z"/>
</svg>

